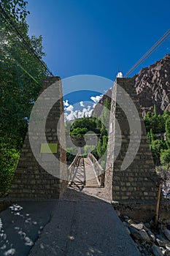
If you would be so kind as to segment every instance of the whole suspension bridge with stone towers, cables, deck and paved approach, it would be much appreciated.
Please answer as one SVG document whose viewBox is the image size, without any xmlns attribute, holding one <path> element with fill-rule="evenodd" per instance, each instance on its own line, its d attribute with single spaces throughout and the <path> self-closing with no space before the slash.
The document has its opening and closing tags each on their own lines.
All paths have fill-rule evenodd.
<svg viewBox="0 0 170 256">
<path fill-rule="evenodd" d="M 4 12 L 1 4 L 0 9 L 4 22 L 42 64 L 42 67 L 47 70 L 47 74 L 51 76 L 45 79 L 42 90 L 45 91 L 55 83 L 56 94 L 59 94 L 62 99 L 61 79 L 53 77 L 53 73 L 38 58 L 34 49 L 28 44 L 28 40 L 23 38 L 9 15 Z M 167 31 L 125 76 L 128 76 L 138 64 L 141 64 L 147 56 L 150 56 L 154 50 L 166 42 L 169 39 L 169 34 L 170 31 Z M 24 72 L 28 75 L 27 70 Z M 122 79 L 118 80 L 118 83 L 130 95 L 134 104 L 138 104 L 136 108 L 139 110 L 133 81 Z M 9 253 L 23 256 L 140 255 L 131 237 L 125 231 L 125 227 L 115 214 L 111 203 L 113 199 L 121 202 L 126 200 L 138 203 L 142 201 L 155 202 L 158 192 L 155 184 L 156 173 L 142 117 L 140 119 L 142 140 L 139 151 L 132 165 L 127 170 L 120 170 L 131 131 L 125 118 L 123 119 L 123 110 L 115 105 L 115 95 L 120 97 L 120 91 L 117 90 L 115 94 L 112 94 L 112 116 L 110 116 L 109 127 L 113 128 L 113 124 L 115 127 L 110 129 L 105 170 L 102 169 L 92 154 L 88 154 L 87 158 L 77 155 L 68 170 L 63 169 L 61 163 L 66 162 L 66 152 L 63 151 L 58 140 L 58 137 L 64 140 L 63 120 L 59 122 L 60 116 L 63 114 L 63 102 L 61 101 L 53 105 L 45 124 L 47 142 L 58 144 L 58 150 L 53 153 L 56 159 L 61 160 L 57 164 L 54 162 L 54 170 L 58 172 L 58 176 L 47 173 L 45 167 L 43 168 L 36 161 L 27 133 L 9 192 L 9 200 L 15 203 L 12 203 L 11 208 L 0 215 L 2 219 L 0 235 L 3 237 L 1 255 L 9 255 Z M 48 100 L 51 99 L 45 98 L 47 104 L 49 103 Z M 120 154 L 116 161 L 114 154 L 118 138 L 115 118 L 120 124 L 123 136 Z M 58 128 L 60 130 L 58 137 L 56 135 L 58 132 L 56 122 L 59 123 Z M 39 143 L 36 149 L 40 158 L 45 157 L 45 161 L 49 164 L 49 152 L 44 152 L 42 155 L 40 151 L 42 143 L 45 143 L 45 141 L 41 141 L 42 132 L 44 131 L 40 127 L 33 136 L 34 140 Z M 50 164 L 53 165 L 53 161 Z M 68 188 L 68 179 L 69 187 L 72 189 Z M 89 196 L 82 193 L 84 188 L 104 188 L 104 192 L 109 194 L 109 203 L 99 200 L 95 195 Z M 77 190 L 79 191 L 77 192 Z M 152 214 L 151 211 L 150 213 Z"/>
</svg>

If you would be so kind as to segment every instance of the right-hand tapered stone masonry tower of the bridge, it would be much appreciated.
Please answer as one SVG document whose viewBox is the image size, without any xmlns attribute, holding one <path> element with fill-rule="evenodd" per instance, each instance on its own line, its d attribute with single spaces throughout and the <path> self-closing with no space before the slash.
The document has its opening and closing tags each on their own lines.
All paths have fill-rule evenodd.
<svg viewBox="0 0 170 256">
<path fill-rule="evenodd" d="M 125 93 L 125 100 L 123 100 L 122 91 L 117 84 L 126 91 L 127 94 Z M 133 100 L 136 105 L 136 109 L 139 112 L 142 137 L 139 150 L 134 161 L 126 168 L 126 170 L 120 170 L 123 159 L 125 158 L 125 154 L 128 150 L 131 135 L 128 119 L 123 111 L 123 109 L 125 110 L 129 108 L 127 104 L 128 95 Z M 117 102 L 122 102 L 123 108 L 120 108 Z M 131 115 L 133 116 L 133 109 L 128 109 L 128 111 L 131 111 Z M 118 125 L 121 129 L 121 145 Z M 135 131 L 134 138 L 136 138 L 133 142 L 135 144 L 136 140 L 139 138 L 138 130 Z M 115 155 L 117 154 L 119 147 L 120 153 L 116 158 Z M 131 152 L 133 152 L 133 150 L 134 148 L 132 147 Z M 129 155 L 129 157 L 131 156 Z M 156 202 L 158 193 L 157 183 L 158 177 L 155 172 L 150 146 L 147 141 L 146 129 L 142 119 L 142 111 L 134 88 L 134 80 L 131 78 L 117 78 L 112 89 L 105 187 L 107 192 L 111 195 L 111 200 L 142 200 L 143 202 Z"/>
</svg>

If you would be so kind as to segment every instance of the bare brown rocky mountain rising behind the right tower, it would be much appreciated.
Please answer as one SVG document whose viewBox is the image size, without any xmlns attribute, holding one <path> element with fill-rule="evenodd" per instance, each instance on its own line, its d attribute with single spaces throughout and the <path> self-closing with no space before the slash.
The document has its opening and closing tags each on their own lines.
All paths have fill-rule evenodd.
<svg viewBox="0 0 170 256">
<path fill-rule="evenodd" d="M 147 111 L 152 111 L 154 105 L 157 113 L 163 113 L 163 110 L 170 111 L 170 54 L 166 54 L 150 67 L 143 68 L 134 76 L 134 80 L 143 116 Z M 104 101 L 107 98 L 111 101 L 111 97 L 112 91 L 109 89 L 94 108 L 93 115 L 100 116 Z"/>
</svg>

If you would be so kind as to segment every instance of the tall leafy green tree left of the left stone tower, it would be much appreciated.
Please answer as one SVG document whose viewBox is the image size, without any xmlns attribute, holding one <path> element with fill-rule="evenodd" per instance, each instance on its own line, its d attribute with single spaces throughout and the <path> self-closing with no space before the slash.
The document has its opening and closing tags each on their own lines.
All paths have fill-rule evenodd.
<svg viewBox="0 0 170 256">
<path fill-rule="evenodd" d="M 42 59 L 42 37 L 28 37 L 26 1 L 2 0 L 15 28 Z M 6 194 L 18 162 L 32 105 L 39 94 L 45 67 L 19 39 L 1 11 L 0 19 L 0 194 Z"/>
</svg>

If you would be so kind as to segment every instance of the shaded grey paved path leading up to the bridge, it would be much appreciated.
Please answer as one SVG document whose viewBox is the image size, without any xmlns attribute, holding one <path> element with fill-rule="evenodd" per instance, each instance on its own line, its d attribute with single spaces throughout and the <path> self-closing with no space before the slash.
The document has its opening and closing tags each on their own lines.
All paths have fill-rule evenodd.
<svg viewBox="0 0 170 256">
<path fill-rule="evenodd" d="M 114 208 L 74 189 L 56 201 L 18 202 L 0 218 L 0 255 L 140 255 Z"/>
</svg>

